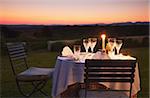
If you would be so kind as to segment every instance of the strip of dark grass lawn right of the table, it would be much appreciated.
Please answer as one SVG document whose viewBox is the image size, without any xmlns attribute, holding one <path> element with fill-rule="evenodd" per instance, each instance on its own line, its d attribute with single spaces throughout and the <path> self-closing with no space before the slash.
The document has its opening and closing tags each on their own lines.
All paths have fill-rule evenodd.
<svg viewBox="0 0 150 98">
<path fill-rule="evenodd" d="M 141 91 L 138 98 L 149 98 L 149 48 L 127 49 L 137 58 L 141 78 Z"/>
</svg>

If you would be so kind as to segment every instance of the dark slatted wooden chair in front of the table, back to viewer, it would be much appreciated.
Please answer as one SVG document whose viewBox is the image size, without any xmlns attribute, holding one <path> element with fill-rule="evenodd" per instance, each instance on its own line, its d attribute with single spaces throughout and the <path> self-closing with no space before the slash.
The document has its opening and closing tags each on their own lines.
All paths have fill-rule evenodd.
<svg viewBox="0 0 150 98">
<path fill-rule="evenodd" d="M 134 82 L 136 60 L 90 60 L 85 61 L 85 97 L 91 90 L 92 82 L 120 82 L 129 83 L 128 90 L 103 89 L 106 91 L 128 91 L 131 98 L 132 83 Z M 119 73 L 119 74 L 118 74 Z"/>
</svg>

